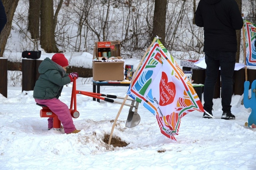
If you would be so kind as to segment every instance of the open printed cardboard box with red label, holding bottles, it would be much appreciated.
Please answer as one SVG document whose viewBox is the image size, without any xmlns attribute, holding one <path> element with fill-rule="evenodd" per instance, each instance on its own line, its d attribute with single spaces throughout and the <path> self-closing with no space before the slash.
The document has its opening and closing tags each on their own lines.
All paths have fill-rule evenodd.
<svg viewBox="0 0 256 170">
<path fill-rule="evenodd" d="M 110 48 L 111 57 L 117 57 L 120 56 L 120 41 L 100 41 L 95 42 L 95 47 L 93 50 L 93 58 L 99 57 L 98 50 L 101 49 L 101 52 L 103 48 Z"/>
</svg>

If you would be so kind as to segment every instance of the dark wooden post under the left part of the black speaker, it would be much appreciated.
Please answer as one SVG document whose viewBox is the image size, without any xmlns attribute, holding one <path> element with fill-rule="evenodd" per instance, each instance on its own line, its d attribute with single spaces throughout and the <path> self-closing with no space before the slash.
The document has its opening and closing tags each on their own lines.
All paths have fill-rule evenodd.
<svg viewBox="0 0 256 170">
<path fill-rule="evenodd" d="M 34 90 L 35 87 L 35 60 L 22 59 L 22 91 Z"/>
</svg>

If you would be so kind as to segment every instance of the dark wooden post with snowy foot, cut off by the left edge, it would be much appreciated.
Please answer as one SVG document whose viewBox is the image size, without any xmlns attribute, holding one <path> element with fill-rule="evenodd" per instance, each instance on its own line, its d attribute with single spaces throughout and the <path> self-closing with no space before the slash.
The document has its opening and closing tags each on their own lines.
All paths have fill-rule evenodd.
<svg viewBox="0 0 256 170">
<path fill-rule="evenodd" d="M 0 57 L 0 93 L 7 98 L 7 58 Z"/>
</svg>

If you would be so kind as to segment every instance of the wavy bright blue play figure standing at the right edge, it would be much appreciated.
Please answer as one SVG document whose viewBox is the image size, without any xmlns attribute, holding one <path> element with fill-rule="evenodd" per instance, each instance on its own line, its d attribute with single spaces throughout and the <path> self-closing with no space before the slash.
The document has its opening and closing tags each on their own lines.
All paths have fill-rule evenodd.
<svg viewBox="0 0 256 170">
<path fill-rule="evenodd" d="M 248 117 L 248 123 L 245 126 L 249 128 L 256 128 L 256 80 L 251 83 L 251 99 L 248 99 L 249 81 L 244 83 L 244 106 L 245 108 L 251 108 L 251 114 Z"/>
</svg>

